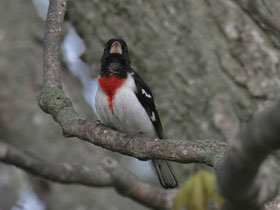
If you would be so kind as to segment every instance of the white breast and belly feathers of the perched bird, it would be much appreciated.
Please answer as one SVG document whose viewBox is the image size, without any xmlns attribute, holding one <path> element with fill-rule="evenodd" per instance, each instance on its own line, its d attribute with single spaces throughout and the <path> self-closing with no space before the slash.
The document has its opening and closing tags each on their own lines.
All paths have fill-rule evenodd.
<svg viewBox="0 0 280 210">
<path fill-rule="evenodd" d="M 138 101 L 134 91 L 136 90 L 135 82 L 128 74 L 125 83 L 117 90 L 114 100 L 113 109 L 108 106 L 106 94 L 98 86 L 95 96 L 95 107 L 99 120 L 105 125 L 128 134 L 143 133 L 150 137 L 156 137 L 156 132 L 151 120 L 145 109 Z"/>
</svg>

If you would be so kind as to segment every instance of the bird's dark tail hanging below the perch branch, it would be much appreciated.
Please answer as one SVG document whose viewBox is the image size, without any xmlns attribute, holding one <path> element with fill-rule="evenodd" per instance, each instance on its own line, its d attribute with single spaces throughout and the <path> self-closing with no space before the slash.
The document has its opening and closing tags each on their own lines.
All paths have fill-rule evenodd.
<svg viewBox="0 0 280 210">
<path fill-rule="evenodd" d="M 160 184 L 163 188 L 177 187 L 177 180 L 165 160 L 153 160 Z"/>
</svg>

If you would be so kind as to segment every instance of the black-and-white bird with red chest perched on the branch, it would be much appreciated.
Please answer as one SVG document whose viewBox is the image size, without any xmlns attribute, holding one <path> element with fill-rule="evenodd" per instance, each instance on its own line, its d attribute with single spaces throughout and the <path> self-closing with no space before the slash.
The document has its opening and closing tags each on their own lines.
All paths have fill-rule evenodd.
<svg viewBox="0 0 280 210">
<path fill-rule="evenodd" d="M 101 58 L 95 95 L 97 118 L 121 132 L 163 138 L 154 97 L 144 80 L 131 67 L 127 44 L 110 39 Z M 177 187 L 177 180 L 165 160 L 152 160 L 165 189 Z"/>
</svg>

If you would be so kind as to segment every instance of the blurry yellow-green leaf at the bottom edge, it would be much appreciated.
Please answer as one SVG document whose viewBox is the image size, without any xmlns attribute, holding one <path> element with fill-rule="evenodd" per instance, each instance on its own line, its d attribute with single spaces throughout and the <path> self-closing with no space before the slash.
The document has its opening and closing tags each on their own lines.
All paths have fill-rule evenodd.
<svg viewBox="0 0 280 210">
<path fill-rule="evenodd" d="M 174 210 L 207 210 L 209 201 L 222 205 L 218 194 L 216 178 L 212 173 L 200 171 L 189 178 L 177 193 Z"/>
</svg>

